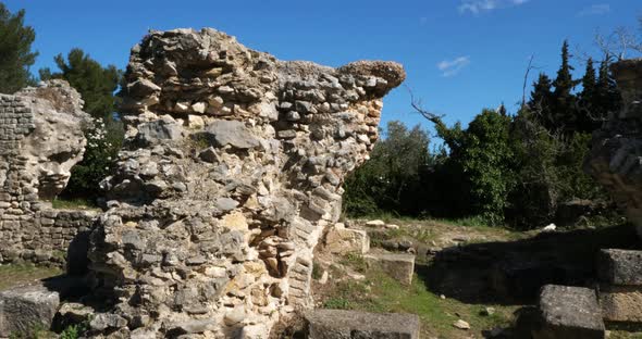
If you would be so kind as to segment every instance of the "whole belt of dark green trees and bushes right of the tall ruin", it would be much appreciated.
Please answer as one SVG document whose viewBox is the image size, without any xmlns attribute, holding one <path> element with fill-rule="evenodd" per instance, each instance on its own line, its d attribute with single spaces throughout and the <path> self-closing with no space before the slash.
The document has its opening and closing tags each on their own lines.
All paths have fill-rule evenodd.
<svg viewBox="0 0 642 339">
<path fill-rule="evenodd" d="M 613 58 L 605 55 L 598 70 L 589 59 L 575 79 L 571 56 L 564 41 L 555 79 L 540 74 L 518 112 L 485 109 L 466 128 L 447 126 L 413 101 L 443 145 L 431 151 L 425 130 L 390 123 L 371 160 L 346 179 L 345 212 L 477 217 L 528 229 L 555 222 L 563 203 L 609 204 L 582 166 L 591 133 L 621 105 Z"/>
</svg>

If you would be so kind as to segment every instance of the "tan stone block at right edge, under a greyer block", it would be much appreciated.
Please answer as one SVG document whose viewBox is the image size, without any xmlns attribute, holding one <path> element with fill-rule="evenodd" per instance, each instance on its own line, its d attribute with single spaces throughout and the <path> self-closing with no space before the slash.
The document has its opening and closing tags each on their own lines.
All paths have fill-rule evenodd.
<svg viewBox="0 0 642 339">
<path fill-rule="evenodd" d="M 600 290 L 600 305 L 607 322 L 642 323 L 642 287 L 603 287 Z"/>
</svg>

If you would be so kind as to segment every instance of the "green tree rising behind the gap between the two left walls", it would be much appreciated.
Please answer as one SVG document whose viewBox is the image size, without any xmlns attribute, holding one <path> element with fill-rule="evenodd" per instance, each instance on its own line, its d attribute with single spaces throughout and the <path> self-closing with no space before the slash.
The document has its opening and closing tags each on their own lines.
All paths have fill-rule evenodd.
<svg viewBox="0 0 642 339">
<path fill-rule="evenodd" d="M 60 72 L 42 68 L 39 71 L 40 78 L 67 80 L 83 96 L 85 112 L 96 118 L 111 118 L 118 104 L 114 92 L 119 88 L 122 72 L 114 65 L 103 67 L 77 48 L 69 52 L 66 61 L 62 54 L 58 54 L 54 61 Z"/>
</svg>

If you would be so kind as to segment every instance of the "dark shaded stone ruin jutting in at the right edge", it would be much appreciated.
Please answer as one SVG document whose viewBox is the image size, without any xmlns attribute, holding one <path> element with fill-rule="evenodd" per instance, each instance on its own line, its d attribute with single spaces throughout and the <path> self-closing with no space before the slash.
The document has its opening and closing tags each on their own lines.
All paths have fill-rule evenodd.
<svg viewBox="0 0 642 339">
<path fill-rule="evenodd" d="M 593 134 L 587 173 L 606 187 L 642 236 L 642 59 L 613 64 L 624 108 Z"/>
</svg>

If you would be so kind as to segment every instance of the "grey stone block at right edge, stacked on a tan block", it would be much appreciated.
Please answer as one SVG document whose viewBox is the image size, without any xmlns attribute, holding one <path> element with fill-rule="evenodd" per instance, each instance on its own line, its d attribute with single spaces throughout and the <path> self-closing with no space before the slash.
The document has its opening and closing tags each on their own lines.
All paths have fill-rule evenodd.
<svg viewBox="0 0 642 339">
<path fill-rule="evenodd" d="M 597 274 L 604 284 L 642 286 L 642 251 L 601 250 Z"/>
</svg>

